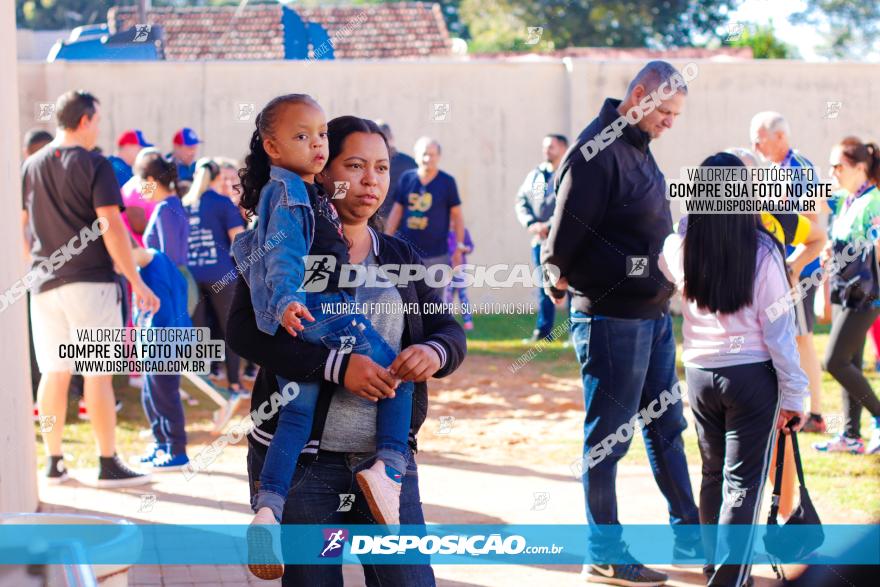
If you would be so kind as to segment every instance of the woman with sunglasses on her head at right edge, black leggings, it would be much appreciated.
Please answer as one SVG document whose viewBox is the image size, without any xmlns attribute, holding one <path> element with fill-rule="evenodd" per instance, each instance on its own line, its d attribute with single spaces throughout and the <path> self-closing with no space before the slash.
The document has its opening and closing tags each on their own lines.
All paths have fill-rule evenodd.
<svg viewBox="0 0 880 587">
<path fill-rule="evenodd" d="M 880 315 L 880 149 L 846 137 L 831 150 L 831 177 L 833 187 L 842 188 L 847 196 L 837 205 L 831 239 L 822 255 L 824 268 L 831 273 L 832 302 L 825 370 L 843 387 L 845 426 L 839 436 L 813 447 L 822 452 L 877 454 L 880 399 L 862 372 L 862 353 L 868 330 Z M 862 406 L 874 418 L 867 446 L 861 438 Z"/>
</svg>

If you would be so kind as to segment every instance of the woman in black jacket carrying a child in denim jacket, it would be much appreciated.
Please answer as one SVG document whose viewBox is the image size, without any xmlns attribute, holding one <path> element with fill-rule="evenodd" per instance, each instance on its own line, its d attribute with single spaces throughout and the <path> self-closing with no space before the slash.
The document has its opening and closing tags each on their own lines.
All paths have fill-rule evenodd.
<svg viewBox="0 0 880 587">
<path fill-rule="evenodd" d="M 271 250 L 239 278 L 227 342 L 261 366 L 253 406 L 289 385 L 296 392 L 248 436 L 255 528 L 279 521 L 424 523 L 413 454 L 427 414 L 426 381 L 461 364 L 464 332 L 448 314 L 371 312 L 439 303 L 422 281 L 338 283 L 343 264 L 420 263 L 409 245 L 375 226 L 388 193 L 389 159 L 375 123 L 353 116 L 327 123 L 305 95 L 276 98 L 257 117 L 241 175 L 242 206 L 259 221 L 236 240 L 234 252 L 238 258 L 257 247 Z M 330 200 L 327 193 L 340 185 L 344 196 Z M 279 230 L 282 243 L 268 247 Z M 305 254 L 320 256 L 319 266 L 329 269 L 320 272 L 318 288 L 309 287 L 316 272 Z M 319 302 L 327 301 L 351 311 L 325 312 Z M 339 512 L 344 494 L 354 495 L 353 504 Z M 260 547 L 260 535 L 253 538 L 251 547 Z M 280 574 L 271 556 L 264 562 L 251 570 L 263 578 Z M 427 565 L 366 565 L 364 574 L 368 585 L 434 584 Z M 342 585 L 342 569 L 289 566 L 284 584 Z"/>
</svg>

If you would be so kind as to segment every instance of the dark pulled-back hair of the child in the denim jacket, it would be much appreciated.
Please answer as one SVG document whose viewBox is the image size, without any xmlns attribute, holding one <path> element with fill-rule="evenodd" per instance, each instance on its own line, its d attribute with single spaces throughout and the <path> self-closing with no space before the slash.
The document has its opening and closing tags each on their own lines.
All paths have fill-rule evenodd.
<svg viewBox="0 0 880 587">
<path fill-rule="evenodd" d="M 269 182 L 269 171 L 272 167 L 269 155 L 263 147 L 263 139 L 272 135 L 275 117 L 284 104 L 311 104 L 320 108 L 315 99 L 308 94 L 285 94 L 270 100 L 257 114 L 256 129 L 251 135 L 250 152 L 244 159 L 244 167 L 238 171 L 241 180 L 239 205 L 244 208 L 249 218 L 254 215 L 260 203 L 260 192 Z"/>
</svg>

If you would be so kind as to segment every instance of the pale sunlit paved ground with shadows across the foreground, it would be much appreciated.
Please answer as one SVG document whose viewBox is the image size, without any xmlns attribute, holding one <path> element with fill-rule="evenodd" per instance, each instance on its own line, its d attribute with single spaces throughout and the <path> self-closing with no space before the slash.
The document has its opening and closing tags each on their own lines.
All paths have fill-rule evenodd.
<svg viewBox="0 0 880 587">
<path fill-rule="evenodd" d="M 210 471 L 186 481 L 180 473 L 155 476 L 142 488 L 100 490 L 77 481 L 61 486 L 41 484 L 42 511 L 79 512 L 118 516 L 140 523 L 246 524 L 247 505 L 244 446 L 228 447 Z M 567 467 L 560 465 L 517 467 L 480 464 L 455 454 L 422 453 L 420 487 L 429 523 L 572 524 L 583 522 L 583 494 Z M 77 471 L 72 471 L 74 479 Z M 693 472 L 697 478 L 697 471 Z M 82 477 L 93 476 L 83 471 Z M 624 523 L 663 523 L 665 504 L 650 476 L 641 467 L 623 468 L 618 478 Z M 479 491 L 475 491 L 479 488 Z M 535 508 L 534 494 L 548 496 Z M 145 495 L 155 495 L 152 497 Z M 152 504 L 152 505 L 150 505 Z M 703 585 L 698 569 L 663 568 L 673 586 Z M 583 585 L 579 566 L 480 565 L 435 566 L 438 585 L 444 587 L 512 585 Z M 759 574 L 770 576 L 767 570 Z M 364 584 L 358 566 L 346 566 L 347 586 Z M 130 584 L 147 585 L 271 585 L 249 575 L 241 566 L 169 565 L 132 569 Z M 280 584 L 278 582 L 277 584 Z M 770 585 L 759 580 L 757 585 Z"/>
</svg>

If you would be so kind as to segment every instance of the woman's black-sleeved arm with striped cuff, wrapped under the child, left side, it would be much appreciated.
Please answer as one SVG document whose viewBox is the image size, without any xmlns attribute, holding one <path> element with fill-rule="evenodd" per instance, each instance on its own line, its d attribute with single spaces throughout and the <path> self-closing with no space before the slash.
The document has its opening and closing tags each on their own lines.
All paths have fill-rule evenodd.
<svg viewBox="0 0 880 587">
<path fill-rule="evenodd" d="M 262 332 L 257 328 L 251 290 L 244 277 L 239 276 L 234 287 L 226 344 L 237 354 L 291 381 L 330 381 L 370 400 L 393 392 L 390 375 L 366 355 L 339 354 L 335 349 L 293 337 L 283 328 L 274 335 Z"/>
</svg>

